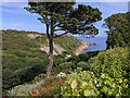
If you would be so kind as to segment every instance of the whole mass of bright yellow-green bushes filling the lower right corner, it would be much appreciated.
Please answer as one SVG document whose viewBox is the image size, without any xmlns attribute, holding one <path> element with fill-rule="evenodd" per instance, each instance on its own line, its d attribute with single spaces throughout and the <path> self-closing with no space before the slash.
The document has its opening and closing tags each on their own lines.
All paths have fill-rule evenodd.
<svg viewBox="0 0 130 98">
<path fill-rule="evenodd" d="M 62 93 L 64 96 L 128 96 L 130 81 L 130 52 L 115 48 L 91 58 L 91 71 L 68 74 Z"/>
</svg>

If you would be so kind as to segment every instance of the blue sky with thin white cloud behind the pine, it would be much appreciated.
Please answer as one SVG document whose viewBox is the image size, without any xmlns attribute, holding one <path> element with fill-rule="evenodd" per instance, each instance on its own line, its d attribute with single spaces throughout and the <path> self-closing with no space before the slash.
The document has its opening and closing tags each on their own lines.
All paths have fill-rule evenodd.
<svg viewBox="0 0 130 98">
<path fill-rule="evenodd" d="M 75 8 L 77 8 L 78 4 L 91 5 L 102 12 L 103 20 L 94 24 L 96 28 L 99 28 L 98 37 L 106 37 L 104 33 L 106 29 L 102 27 L 104 19 L 113 14 L 128 12 L 128 2 L 77 2 Z M 39 15 L 30 14 L 24 7 L 27 7 L 27 2 L 0 3 L 0 12 L 2 14 L 2 21 L 0 23 L 2 28 L 0 29 L 46 33 L 46 25 L 37 20 Z"/>
</svg>

